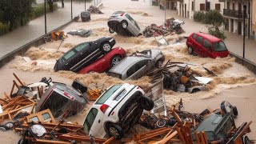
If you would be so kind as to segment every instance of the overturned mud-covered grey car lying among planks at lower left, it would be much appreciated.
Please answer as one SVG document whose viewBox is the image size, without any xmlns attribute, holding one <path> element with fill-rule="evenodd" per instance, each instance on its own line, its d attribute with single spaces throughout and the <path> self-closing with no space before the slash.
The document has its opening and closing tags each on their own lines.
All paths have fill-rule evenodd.
<svg viewBox="0 0 256 144">
<path fill-rule="evenodd" d="M 46 80 L 46 78 L 45 78 Z M 54 118 L 66 118 L 77 114 L 86 106 L 86 86 L 74 80 L 72 86 L 60 82 L 42 80 L 48 88 L 35 106 L 35 112 L 50 109 Z"/>
</svg>

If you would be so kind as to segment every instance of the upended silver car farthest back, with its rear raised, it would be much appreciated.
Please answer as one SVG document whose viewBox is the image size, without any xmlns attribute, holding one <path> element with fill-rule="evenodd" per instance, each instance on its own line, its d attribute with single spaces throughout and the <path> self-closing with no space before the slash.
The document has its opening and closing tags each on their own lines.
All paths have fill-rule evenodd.
<svg viewBox="0 0 256 144">
<path fill-rule="evenodd" d="M 114 32 L 122 35 L 139 36 L 141 35 L 141 29 L 134 18 L 131 18 L 129 14 L 124 11 L 114 12 L 110 18 L 108 18 L 107 25 L 111 34 Z"/>
</svg>

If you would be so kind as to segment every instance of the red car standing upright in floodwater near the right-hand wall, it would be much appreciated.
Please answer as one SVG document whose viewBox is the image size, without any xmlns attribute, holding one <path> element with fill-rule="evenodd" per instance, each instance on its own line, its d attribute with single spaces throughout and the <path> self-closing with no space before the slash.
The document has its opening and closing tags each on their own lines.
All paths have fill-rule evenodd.
<svg viewBox="0 0 256 144">
<path fill-rule="evenodd" d="M 186 46 L 188 46 L 189 54 L 195 53 L 201 57 L 224 58 L 230 54 L 221 39 L 206 33 L 190 34 L 186 40 Z"/>
</svg>

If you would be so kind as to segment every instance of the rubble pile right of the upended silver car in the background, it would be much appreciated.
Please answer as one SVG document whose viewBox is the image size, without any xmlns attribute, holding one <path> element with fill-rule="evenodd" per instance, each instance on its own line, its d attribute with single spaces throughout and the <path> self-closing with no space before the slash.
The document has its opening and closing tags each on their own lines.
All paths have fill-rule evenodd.
<svg viewBox="0 0 256 144">
<path fill-rule="evenodd" d="M 159 35 L 167 36 L 174 34 L 182 34 L 184 30 L 181 25 L 184 24 L 183 21 L 178 19 L 170 18 L 167 19 L 165 24 L 162 26 L 157 26 L 156 24 L 151 24 L 150 26 L 146 26 L 145 30 L 143 30 L 142 34 L 146 37 L 158 37 Z"/>
</svg>

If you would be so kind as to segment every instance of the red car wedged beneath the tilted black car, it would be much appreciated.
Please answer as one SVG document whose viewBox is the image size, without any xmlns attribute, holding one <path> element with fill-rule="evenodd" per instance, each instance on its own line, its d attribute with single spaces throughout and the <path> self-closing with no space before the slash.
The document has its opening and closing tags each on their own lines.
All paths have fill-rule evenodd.
<svg viewBox="0 0 256 144">
<path fill-rule="evenodd" d="M 120 62 L 125 57 L 126 50 L 122 49 L 122 47 L 116 47 L 106 55 L 102 56 L 102 58 L 98 58 L 98 60 L 90 64 L 90 66 L 86 66 L 82 68 L 82 70 L 79 70 L 78 73 L 86 74 L 90 71 L 102 73 L 109 70 L 112 66 Z"/>
</svg>

